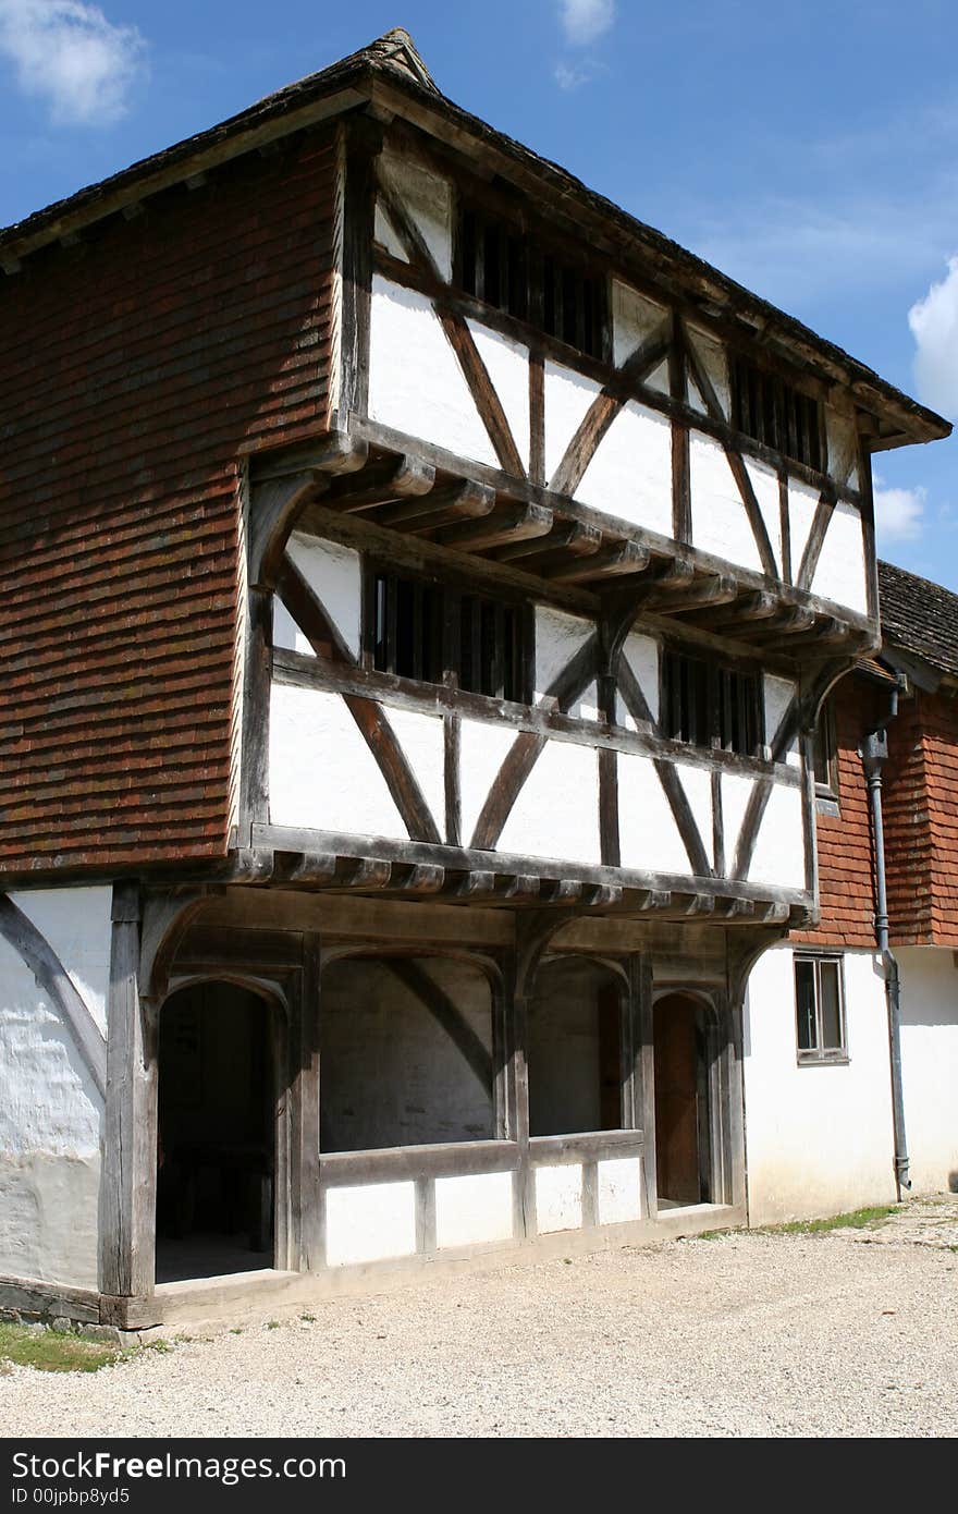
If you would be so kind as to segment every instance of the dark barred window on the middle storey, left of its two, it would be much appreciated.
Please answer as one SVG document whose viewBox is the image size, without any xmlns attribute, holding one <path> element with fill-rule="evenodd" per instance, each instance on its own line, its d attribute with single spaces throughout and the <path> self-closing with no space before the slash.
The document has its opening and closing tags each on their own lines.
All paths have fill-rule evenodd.
<svg viewBox="0 0 958 1514">
<path fill-rule="evenodd" d="M 377 668 L 377 583 L 380 578 L 392 578 L 418 586 L 424 592 L 430 589 L 436 595 L 436 613 L 439 621 L 439 663 L 437 678 L 415 677 L 412 674 L 393 672 L 387 668 Z M 512 610 L 513 621 L 513 698 L 510 693 L 484 693 L 468 689 L 462 684 L 462 601 L 472 600 L 480 604 L 492 604 L 496 609 Z M 496 616 L 498 622 L 498 616 Z M 472 584 L 457 578 L 440 578 L 436 575 L 416 572 L 403 565 L 395 565 L 383 557 L 366 554 L 363 559 L 362 578 L 362 630 L 360 630 L 362 660 L 368 672 L 395 683 L 410 690 L 419 689 L 449 689 L 462 693 L 466 699 L 483 699 L 492 706 L 513 704 L 524 709 L 531 707 L 536 681 L 536 612 L 534 606 L 519 593 L 496 590 L 486 593 Z M 459 651 L 457 651 L 459 646 Z M 505 689 L 505 684 L 504 684 Z"/>
</svg>

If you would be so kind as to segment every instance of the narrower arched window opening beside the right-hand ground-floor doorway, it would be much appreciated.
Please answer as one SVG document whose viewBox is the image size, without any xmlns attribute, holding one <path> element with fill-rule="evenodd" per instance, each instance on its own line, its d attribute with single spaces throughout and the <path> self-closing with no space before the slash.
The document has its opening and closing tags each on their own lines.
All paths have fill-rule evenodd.
<svg viewBox="0 0 958 1514">
<path fill-rule="evenodd" d="M 530 1136 L 622 1129 L 628 1066 L 622 984 L 602 963 L 545 961 L 528 1008 Z"/>
</svg>

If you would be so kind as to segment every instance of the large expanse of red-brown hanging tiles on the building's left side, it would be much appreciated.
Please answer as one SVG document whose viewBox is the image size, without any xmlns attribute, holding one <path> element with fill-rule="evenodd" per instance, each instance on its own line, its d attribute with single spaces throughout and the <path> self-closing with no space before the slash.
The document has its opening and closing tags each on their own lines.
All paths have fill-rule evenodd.
<svg viewBox="0 0 958 1514">
<path fill-rule="evenodd" d="M 226 852 L 239 457 L 327 424 L 334 139 L 0 285 L 0 875 Z"/>
</svg>

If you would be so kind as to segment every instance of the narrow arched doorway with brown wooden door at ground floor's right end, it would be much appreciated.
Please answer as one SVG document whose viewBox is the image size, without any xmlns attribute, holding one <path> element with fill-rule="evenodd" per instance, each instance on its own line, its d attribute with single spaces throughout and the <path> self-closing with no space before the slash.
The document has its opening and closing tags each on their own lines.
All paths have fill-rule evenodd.
<svg viewBox="0 0 958 1514">
<path fill-rule="evenodd" d="M 654 1016 L 658 1207 L 710 1204 L 708 1011 L 689 995 L 669 993 Z"/>
</svg>

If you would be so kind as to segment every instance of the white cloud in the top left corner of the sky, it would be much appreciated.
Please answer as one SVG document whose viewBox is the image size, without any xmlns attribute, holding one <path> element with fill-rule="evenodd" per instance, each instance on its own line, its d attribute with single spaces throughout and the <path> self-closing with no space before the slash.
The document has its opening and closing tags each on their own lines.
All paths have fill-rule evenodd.
<svg viewBox="0 0 958 1514">
<path fill-rule="evenodd" d="M 0 53 L 54 123 L 100 124 L 126 115 L 145 41 L 82 0 L 0 0 Z"/>
</svg>

